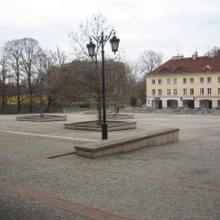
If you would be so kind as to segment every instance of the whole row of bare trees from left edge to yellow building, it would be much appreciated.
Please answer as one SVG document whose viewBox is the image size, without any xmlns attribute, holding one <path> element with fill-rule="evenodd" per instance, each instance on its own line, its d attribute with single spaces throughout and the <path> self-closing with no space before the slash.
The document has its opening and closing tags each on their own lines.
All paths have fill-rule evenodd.
<svg viewBox="0 0 220 220">
<path fill-rule="evenodd" d="M 103 32 L 112 31 L 101 14 L 79 25 L 77 32 L 69 34 L 74 58 L 58 47 L 56 51 L 43 50 L 34 38 L 12 40 L 0 51 L 0 97 L 2 110 L 7 96 L 18 97 L 18 112 L 21 112 L 23 97 L 29 97 L 30 112 L 33 111 L 33 98 L 41 101 L 43 112 L 44 97 L 46 110 L 59 100 L 95 101 L 101 120 L 101 52 L 97 43 L 96 56 L 88 56 L 86 45 L 92 35 L 98 38 Z M 144 100 L 145 74 L 162 63 L 163 55 L 146 51 L 136 64 L 124 62 L 121 53 L 106 58 L 107 101 L 117 102 L 119 96 L 135 95 Z M 13 84 L 11 84 L 13 82 Z"/>
</svg>

